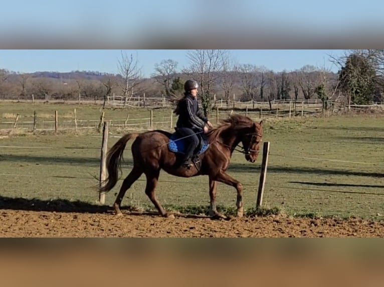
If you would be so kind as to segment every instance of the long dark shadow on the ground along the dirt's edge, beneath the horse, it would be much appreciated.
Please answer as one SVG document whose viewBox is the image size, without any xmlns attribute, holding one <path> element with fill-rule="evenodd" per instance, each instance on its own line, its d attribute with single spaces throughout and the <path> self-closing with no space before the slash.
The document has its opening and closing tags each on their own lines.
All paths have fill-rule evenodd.
<svg viewBox="0 0 384 287">
<path fill-rule="evenodd" d="M 156 211 L 139 210 L 130 205 L 121 206 L 121 211 L 129 215 L 160 216 Z M 47 211 L 63 213 L 90 213 L 114 215 L 114 208 L 108 205 L 92 204 L 84 201 L 70 201 L 68 199 L 43 200 L 39 198 L 7 197 L 0 195 L 0 210 L 24 210 L 24 211 Z M 207 215 L 174 213 L 175 216 L 185 218 L 210 218 Z"/>
</svg>

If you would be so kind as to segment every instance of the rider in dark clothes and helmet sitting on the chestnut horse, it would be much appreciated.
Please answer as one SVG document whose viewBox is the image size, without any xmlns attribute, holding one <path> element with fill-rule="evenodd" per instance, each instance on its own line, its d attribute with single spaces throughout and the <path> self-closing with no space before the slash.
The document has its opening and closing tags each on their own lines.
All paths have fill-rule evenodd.
<svg viewBox="0 0 384 287">
<path fill-rule="evenodd" d="M 195 80 L 188 79 L 184 83 L 184 96 L 178 101 L 174 113 L 178 115 L 176 122 L 176 131 L 186 139 L 187 146 L 184 153 L 182 165 L 190 168 L 193 164 L 191 158 L 199 144 L 199 138 L 196 133 L 208 132 L 212 123 L 199 108 L 197 94 L 199 84 Z"/>
</svg>

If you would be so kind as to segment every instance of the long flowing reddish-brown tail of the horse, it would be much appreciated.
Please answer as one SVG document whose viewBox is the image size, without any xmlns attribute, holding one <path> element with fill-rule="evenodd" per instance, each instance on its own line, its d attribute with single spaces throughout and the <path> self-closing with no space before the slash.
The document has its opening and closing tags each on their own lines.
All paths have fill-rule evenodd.
<svg viewBox="0 0 384 287">
<path fill-rule="evenodd" d="M 123 135 L 108 151 L 106 165 L 108 176 L 99 187 L 99 192 L 108 192 L 111 190 L 118 180 L 118 170 L 121 171 L 121 160 L 123 159 L 124 148 L 130 139 L 135 139 L 138 133 L 127 133 Z"/>
</svg>

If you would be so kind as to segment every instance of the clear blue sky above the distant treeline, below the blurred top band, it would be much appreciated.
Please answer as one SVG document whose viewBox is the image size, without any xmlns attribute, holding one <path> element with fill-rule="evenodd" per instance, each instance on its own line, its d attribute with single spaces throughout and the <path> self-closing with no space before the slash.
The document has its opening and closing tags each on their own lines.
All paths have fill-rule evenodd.
<svg viewBox="0 0 384 287">
<path fill-rule="evenodd" d="M 122 50 L 0 50 L 0 68 L 18 72 L 92 70 L 117 73 L 117 62 Z M 189 65 L 187 50 L 123 50 L 137 58 L 143 75 L 149 77 L 156 63 L 164 59 L 178 62 L 177 68 Z M 343 50 L 229 50 L 239 63 L 266 66 L 274 71 L 294 70 L 306 64 L 337 67 L 329 55 L 341 55 Z"/>
</svg>

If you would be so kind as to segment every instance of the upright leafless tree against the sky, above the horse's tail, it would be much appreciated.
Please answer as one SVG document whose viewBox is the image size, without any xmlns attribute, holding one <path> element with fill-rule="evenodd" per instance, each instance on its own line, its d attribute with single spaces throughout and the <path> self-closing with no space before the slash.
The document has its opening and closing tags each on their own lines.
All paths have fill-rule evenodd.
<svg viewBox="0 0 384 287">
<path fill-rule="evenodd" d="M 132 97 L 134 88 L 142 78 L 142 69 L 138 67 L 137 53 L 136 58 L 134 58 L 132 54 L 128 56 L 125 51 L 121 51 L 121 58 L 118 59 L 117 68 L 122 77 L 119 86 L 123 91 L 125 100 L 128 100 L 128 93 L 130 93 L 129 98 Z"/>
</svg>

